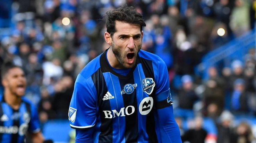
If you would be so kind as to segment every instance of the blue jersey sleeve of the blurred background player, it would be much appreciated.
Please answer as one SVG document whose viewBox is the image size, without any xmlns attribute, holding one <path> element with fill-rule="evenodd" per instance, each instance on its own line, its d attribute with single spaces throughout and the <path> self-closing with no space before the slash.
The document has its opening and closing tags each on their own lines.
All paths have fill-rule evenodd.
<svg viewBox="0 0 256 143">
<path fill-rule="evenodd" d="M 31 105 L 31 120 L 29 122 L 28 131 L 32 133 L 37 133 L 40 131 L 40 121 L 37 112 L 37 108 L 34 104 Z"/>
</svg>

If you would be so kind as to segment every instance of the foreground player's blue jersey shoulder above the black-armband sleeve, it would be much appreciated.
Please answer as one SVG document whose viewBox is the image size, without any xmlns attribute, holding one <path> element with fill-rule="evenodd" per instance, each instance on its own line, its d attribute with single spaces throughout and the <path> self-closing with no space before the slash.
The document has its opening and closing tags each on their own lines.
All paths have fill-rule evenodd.
<svg viewBox="0 0 256 143">
<path fill-rule="evenodd" d="M 165 65 L 165 62 L 156 54 L 140 50 L 139 57 L 145 60 L 157 62 L 158 65 Z"/>
</svg>

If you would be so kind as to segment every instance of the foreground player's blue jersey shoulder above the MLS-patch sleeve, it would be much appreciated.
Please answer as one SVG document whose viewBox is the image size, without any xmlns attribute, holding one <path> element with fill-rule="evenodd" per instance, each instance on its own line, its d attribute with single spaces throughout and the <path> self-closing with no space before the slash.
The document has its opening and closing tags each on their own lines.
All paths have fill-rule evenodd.
<svg viewBox="0 0 256 143">
<path fill-rule="evenodd" d="M 89 78 L 93 73 L 95 73 L 101 66 L 100 66 L 100 57 L 102 54 L 98 55 L 92 61 L 90 61 L 79 73 L 85 79 Z"/>
</svg>

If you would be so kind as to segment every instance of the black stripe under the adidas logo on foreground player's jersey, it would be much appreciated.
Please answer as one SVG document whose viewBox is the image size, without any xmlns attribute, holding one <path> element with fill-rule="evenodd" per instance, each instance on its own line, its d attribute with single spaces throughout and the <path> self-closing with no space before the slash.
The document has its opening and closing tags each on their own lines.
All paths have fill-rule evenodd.
<svg viewBox="0 0 256 143">
<path fill-rule="evenodd" d="M 109 100 L 102 100 L 103 96 L 108 92 L 108 88 L 101 68 L 92 75 L 92 80 L 97 91 L 97 102 L 101 119 L 99 143 L 111 143 L 113 141 L 113 121 L 112 119 L 105 118 L 105 114 L 103 112 L 111 111 L 111 107 Z"/>
</svg>

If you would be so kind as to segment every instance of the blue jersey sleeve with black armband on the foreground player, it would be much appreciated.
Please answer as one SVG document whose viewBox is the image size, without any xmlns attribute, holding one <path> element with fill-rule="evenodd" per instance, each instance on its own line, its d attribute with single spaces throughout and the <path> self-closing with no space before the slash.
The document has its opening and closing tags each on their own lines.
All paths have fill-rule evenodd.
<svg viewBox="0 0 256 143">
<path fill-rule="evenodd" d="M 155 81 L 156 81 L 156 109 L 162 109 L 173 104 L 171 100 L 169 75 L 167 67 L 162 59 L 154 62 Z"/>
</svg>

